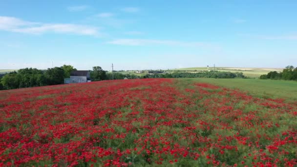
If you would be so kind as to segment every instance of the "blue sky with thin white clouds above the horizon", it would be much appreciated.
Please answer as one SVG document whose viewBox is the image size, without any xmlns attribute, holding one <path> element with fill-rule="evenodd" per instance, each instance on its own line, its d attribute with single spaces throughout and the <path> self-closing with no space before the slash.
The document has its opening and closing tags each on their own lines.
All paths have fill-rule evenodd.
<svg viewBox="0 0 297 167">
<path fill-rule="evenodd" d="M 0 0 L 0 69 L 297 66 L 296 0 Z"/>
</svg>

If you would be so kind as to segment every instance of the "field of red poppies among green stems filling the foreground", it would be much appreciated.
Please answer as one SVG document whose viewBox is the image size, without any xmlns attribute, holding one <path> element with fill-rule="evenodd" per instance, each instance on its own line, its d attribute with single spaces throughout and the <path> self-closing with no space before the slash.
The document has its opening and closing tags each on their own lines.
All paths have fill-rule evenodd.
<svg viewBox="0 0 297 167">
<path fill-rule="evenodd" d="M 297 102 L 189 79 L 0 91 L 0 166 L 297 166 Z"/>
</svg>

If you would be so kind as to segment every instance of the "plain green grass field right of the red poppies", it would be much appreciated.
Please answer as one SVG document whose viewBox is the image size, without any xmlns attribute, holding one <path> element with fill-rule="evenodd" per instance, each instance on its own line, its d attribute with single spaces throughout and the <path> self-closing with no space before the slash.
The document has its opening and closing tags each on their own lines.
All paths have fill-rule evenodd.
<svg viewBox="0 0 297 167">
<path fill-rule="evenodd" d="M 193 82 L 210 83 L 228 88 L 237 88 L 249 94 L 264 98 L 282 98 L 286 101 L 297 101 L 297 82 L 260 79 L 185 79 Z"/>
</svg>

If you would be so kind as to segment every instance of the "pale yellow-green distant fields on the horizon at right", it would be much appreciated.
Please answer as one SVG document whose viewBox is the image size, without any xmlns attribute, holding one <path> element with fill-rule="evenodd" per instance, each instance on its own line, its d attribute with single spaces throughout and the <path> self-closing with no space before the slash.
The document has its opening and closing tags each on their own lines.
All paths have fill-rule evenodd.
<svg viewBox="0 0 297 167">
<path fill-rule="evenodd" d="M 212 70 L 213 67 L 209 67 Z M 205 71 L 207 67 L 192 67 L 192 68 L 178 68 L 172 70 L 184 70 L 184 71 Z M 282 71 L 282 68 L 241 68 L 241 67 L 215 67 L 218 71 L 230 71 L 230 72 L 242 72 L 245 76 L 250 78 L 258 78 L 260 75 L 267 74 L 270 71 Z"/>
</svg>

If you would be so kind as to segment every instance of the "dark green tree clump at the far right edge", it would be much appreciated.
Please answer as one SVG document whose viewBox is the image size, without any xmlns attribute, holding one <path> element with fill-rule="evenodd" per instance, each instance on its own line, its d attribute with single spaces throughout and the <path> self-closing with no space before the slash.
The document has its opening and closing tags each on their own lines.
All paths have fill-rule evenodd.
<svg viewBox="0 0 297 167">
<path fill-rule="evenodd" d="M 297 67 L 289 65 L 286 66 L 282 72 L 271 71 L 268 74 L 261 75 L 260 79 L 272 79 L 272 80 L 295 80 L 297 81 Z"/>
</svg>

